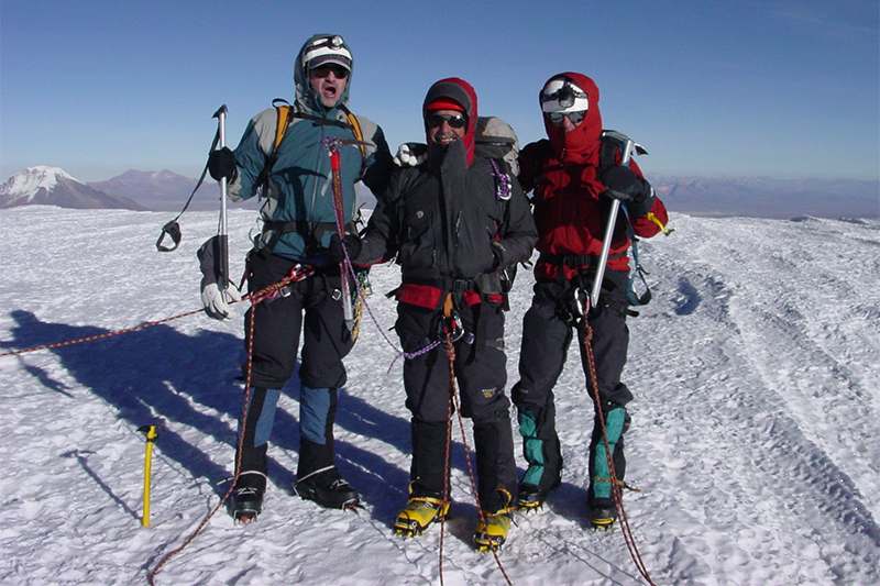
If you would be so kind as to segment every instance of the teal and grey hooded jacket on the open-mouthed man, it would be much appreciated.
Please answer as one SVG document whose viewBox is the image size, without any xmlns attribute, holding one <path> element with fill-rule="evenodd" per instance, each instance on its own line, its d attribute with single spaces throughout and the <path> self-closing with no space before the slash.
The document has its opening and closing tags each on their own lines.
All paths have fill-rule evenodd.
<svg viewBox="0 0 880 586">
<path fill-rule="evenodd" d="M 263 190 L 266 202 L 261 210 L 264 230 L 260 244 L 274 242 L 273 254 L 322 266 L 326 264 L 326 247 L 337 229 L 330 156 L 321 141 L 327 136 L 355 139 L 346 122 L 351 76 L 337 106 L 327 109 L 311 90 L 301 57 L 300 51 L 294 76 L 294 113 Z M 296 113 L 307 118 L 297 117 Z M 362 154 L 356 144 L 345 145 L 340 151 L 346 224 L 356 213 L 355 184 L 363 181 L 371 191 L 381 194 L 394 170 L 382 129 L 364 117 L 356 118 L 366 143 L 364 152 Z M 229 186 L 229 196 L 233 201 L 257 195 L 260 186 L 256 184 L 272 153 L 277 123 L 276 110 L 270 108 L 256 114 L 248 124 L 235 148 L 239 174 Z"/>
</svg>

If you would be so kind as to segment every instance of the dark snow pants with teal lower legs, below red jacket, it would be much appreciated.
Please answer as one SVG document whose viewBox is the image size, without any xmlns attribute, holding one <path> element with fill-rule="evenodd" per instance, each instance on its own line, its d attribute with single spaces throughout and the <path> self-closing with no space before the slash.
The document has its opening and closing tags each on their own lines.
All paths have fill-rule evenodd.
<svg viewBox="0 0 880 586">
<path fill-rule="evenodd" d="M 623 434 L 629 425 L 626 405 L 632 394 L 620 382 L 626 365 L 629 345 L 629 329 L 626 324 L 626 286 L 628 274 L 622 270 L 607 270 L 603 281 L 600 308 L 591 313 L 588 323 L 593 330 L 592 349 L 596 366 L 598 396 L 603 416 L 606 419 L 609 447 L 614 454 L 615 472 L 618 479 L 624 478 Z M 587 394 L 583 400 L 595 405 L 590 366 L 583 344 L 582 330 L 568 313 L 566 302 L 572 295 L 573 284 L 540 281 L 535 285 L 531 307 L 522 322 L 522 341 L 519 354 L 519 382 L 514 386 L 512 398 L 517 407 L 519 433 L 522 435 L 522 452 L 529 468 L 522 484 L 538 486 L 544 491 L 559 486 L 562 473 L 562 454 L 556 429 L 556 405 L 553 388 L 562 374 L 572 339 L 578 336 L 581 363 L 586 376 Z M 608 425 L 608 413 L 615 427 Z M 596 462 L 605 456 L 598 414 L 594 417 L 593 441 L 590 458 L 590 495 L 594 494 L 593 478 L 607 477 L 607 463 L 604 469 L 596 469 Z M 618 465 L 619 462 L 619 465 Z M 602 483 L 600 486 L 610 485 Z"/>
</svg>

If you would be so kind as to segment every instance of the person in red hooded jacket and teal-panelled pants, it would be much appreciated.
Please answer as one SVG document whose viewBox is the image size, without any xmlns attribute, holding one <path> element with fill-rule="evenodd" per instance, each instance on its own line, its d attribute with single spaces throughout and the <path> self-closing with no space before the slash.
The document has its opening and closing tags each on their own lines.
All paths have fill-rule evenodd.
<svg viewBox="0 0 880 586">
<path fill-rule="evenodd" d="M 619 165 L 620 148 L 612 147 L 612 159 L 607 161 L 598 88 L 591 78 L 575 73 L 553 76 L 541 89 L 540 104 L 549 140 L 522 150 L 519 175 L 522 189 L 534 191 L 536 247 L 540 253 L 535 267 L 535 297 L 524 318 L 520 379 L 512 392 L 529 464 L 519 485 L 518 505 L 525 510 L 542 506 L 561 480 L 553 387 L 581 318 L 578 300 L 593 286 L 614 199 L 622 201 L 623 209 L 612 236 L 600 300 L 584 319 L 593 330 L 592 351 L 608 447 L 617 479 L 624 478 L 623 435 L 629 427 L 626 405 L 632 399 L 620 382 L 629 344 L 627 250 L 631 242 L 626 218 L 640 237 L 656 235 L 668 220 L 666 207 L 638 166 L 634 162 Z M 580 347 L 593 397 L 586 349 L 583 344 Z M 590 447 L 587 505 L 593 526 L 606 529 L 617 516 L 598 417 L 596 413 Z"/>
</svg>

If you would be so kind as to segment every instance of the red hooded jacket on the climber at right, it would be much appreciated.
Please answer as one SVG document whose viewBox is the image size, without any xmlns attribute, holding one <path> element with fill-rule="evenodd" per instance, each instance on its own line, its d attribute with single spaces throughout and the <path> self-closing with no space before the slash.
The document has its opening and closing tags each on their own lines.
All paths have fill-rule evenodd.
<svg viewBox="0 0 880 586">
<path fill-rule="evenodd" d="M 572 278 L 579 268 L 590 266 L 590 262 L 582 263 L 580 267 L 569 262 L 561 265 L 551 259 L 553 256 L 593 256 L 595 263 L 602 253 L 602 239 L 612 201 L 607 197 L 600 197 L 605 186 L 596 176 L 602 146 L 598 88 L 585 75 L 561 75 L 570 77 L 586 92 L 590 107 L 583 122 L 571 132 L 563 132 L 544 117 L 549 141 L 530 143 L 520 154 L 519 181 L 526 192 L 534 191 L 535 223 L 538 228 L 536 247 L 542 253 L 535 267 L 538 280 L 556 280 L 560 276 Z M 629 166 L 641 176 L 635 161 Z M 649 214 L 653 214 L 662 225 L 669 220 L 666 207 L 657 198 L 648 213 L 630 218 L 636 235 L 650 237 L 660 232 L 660 225 Z M 628 270 L 629 257 L 626 252 L 630 241 L 623 210 L 617 219 L 607 266 Z M 564 270 L 563 275 L 559 275 L 560 269 Z"/>
</svg>

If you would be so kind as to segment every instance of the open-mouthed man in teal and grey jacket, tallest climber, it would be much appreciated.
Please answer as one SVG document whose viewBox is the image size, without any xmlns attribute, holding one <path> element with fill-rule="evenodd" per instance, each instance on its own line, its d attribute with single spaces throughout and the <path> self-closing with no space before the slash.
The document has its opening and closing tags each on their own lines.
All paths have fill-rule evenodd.
<svg viewBox="0 0 880 586">
<path fill-rule="evenodd" d="M 315 270 L 245 316 L 245 336 L 250 338 L 250 312 L 255 312 L 251 388 L 246 389 L 250 407 L 240 425 L 243 440 L 230 505 L 240 520 L 253 519 L 262 511 L 275 406 L 293 376 L 300 333 L 296 491 L 329 508 L 349 507 L 360 499 L 334 467 L 333 453 L 337 390 L 345 385 L 342 358 L 353 345 L 340 301 L 339 263 L 342 244 L 356 245 L 359 241 L 337 233 L 330 156 L 322 141 L 338 137 L 352 142 L 340 147 L 346 232 L 354 232 L 354 184 L 363 181 L 378 194 L 394 164 L 382 129 L 348 110 L 352 65 L 351 51 L 341 36 L 311 36 L 297 56 L 296 100 L 277 148 L 279 117 L 270 108 L 251 120 L 234 153 L 223 148 L 209 158 L 211 176 L 228 179 L 233 201 L 261 192 L 266 197 L 261 210 L 263 232 L 248 258 L 249 289 L 261 290 L 297 268 Z M 209 314 L 229 317 L 222 291 L 210 279 L 202 301 Z"/>
</svg>

